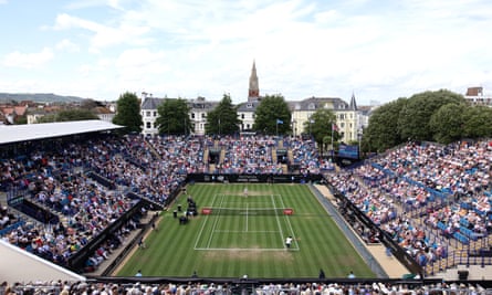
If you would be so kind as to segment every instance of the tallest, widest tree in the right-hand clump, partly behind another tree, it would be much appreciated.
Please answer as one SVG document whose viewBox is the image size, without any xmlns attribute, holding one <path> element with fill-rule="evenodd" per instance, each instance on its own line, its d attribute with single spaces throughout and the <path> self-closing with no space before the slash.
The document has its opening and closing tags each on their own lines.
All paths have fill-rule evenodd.
<svg viewBox="0 0 492 295">
<path fill-rule="evenodd" d="M 401 138 L 411 140 L 432 140 L 433 130 L 429 122 L 443 105 L 465 103 L 462 95 L 440 89 L 412 95 L 399 113 L 398 131 Z"/>
</svg>

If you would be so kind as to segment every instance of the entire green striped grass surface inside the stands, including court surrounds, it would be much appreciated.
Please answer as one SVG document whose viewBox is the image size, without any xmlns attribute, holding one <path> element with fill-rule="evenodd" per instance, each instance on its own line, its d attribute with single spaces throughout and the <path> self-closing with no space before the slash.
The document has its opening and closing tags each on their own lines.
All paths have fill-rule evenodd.
<svg viewBox="0 0 492 295">
<path fill-rule="evenodd" d="M 357 277 L 375 274 L 334 223 L 306 185 L 192 185 L 199 210 L 203 207 L 242 209 L 243 214 L 199 214 L 180 225 L 172 211 L 161 213 L 159 230 L 146 238 L 147 249 L 138 249 L 121 267 L 117 276 L 311 278 L 323 268 L 327 277 Z M 251 208 L 292 208 L 286 217 L 244 214 Z M 287 235 L 294 238 L 290 250 Z"/>
</svg>

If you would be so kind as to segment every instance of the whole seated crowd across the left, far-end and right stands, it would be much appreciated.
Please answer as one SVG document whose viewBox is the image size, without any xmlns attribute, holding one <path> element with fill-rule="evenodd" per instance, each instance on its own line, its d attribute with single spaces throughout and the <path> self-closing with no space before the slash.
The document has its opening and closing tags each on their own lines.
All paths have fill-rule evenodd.
<svg viewBox="0 0 492 295">
<path fill-rule="evenodd" d="M 2 239 L 63 264 L 135 204 L 137 200 L 126 192 L 166 204 L 188 173 L 208 172 L 205 151 L 211 147 L 223 151 L 218 165 L 221 173 L 283 173 L 285 160 L 299 167 L 300 173 L 333 171 L 331 161 L 320 159 L 314 143 L 300 137 L 134 135 L 82 144 L 41 143 L 17 150 L 15 157 L 3 157 L 1 189 L 27 191 L 32 201 L 65 219 L 49 228 L 19 224 Z M 290 151 L 287 159 L 274 157 L 279 148 Z M 491 162 L 488 141 L 449 146 L 408 143 L 326 178 L 425 266 L 449 254 L 441 238 L 469 243 L 492 233 Z M 85 171 L 94 171 L 112 186 L 90 179 Z M 0 229 L 12 224 L 12 214 L 4 210 L 0 214 Z M 422 222 L 417 222 L 419 219 Z M 96 267 L 104 261 L 137 222 L 125 224 L 94 253 L 87 266 Z M 366 241 L 377 242 L 378 232 L 359 223 L 354 226 Z"/>
</svg>

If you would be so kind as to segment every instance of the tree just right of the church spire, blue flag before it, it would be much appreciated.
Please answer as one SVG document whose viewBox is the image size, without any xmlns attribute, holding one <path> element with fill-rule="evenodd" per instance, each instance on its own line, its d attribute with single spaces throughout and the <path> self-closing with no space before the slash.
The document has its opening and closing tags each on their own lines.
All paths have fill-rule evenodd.
<svg viewBox="0 0 492 295">
<path fill-rule="evenodd" d="M 253 129 L 265 134 L 286 134 L 291 131 L 291 110 L 282 95 L 266 95 L 254 113 Z"/>
</svg>

